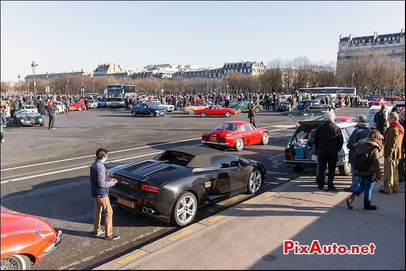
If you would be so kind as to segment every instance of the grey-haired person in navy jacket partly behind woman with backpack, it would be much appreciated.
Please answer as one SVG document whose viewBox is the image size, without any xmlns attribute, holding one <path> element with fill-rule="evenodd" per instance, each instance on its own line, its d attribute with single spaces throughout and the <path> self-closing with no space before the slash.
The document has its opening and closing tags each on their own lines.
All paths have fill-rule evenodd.
<svg viewBox="0 0 406 271">
<path fill-rule="evenodd" d="M 366 121 L 366 116 L 361 115 L 358 117 L 358 123 L 355 125 L 355 130 L 352 132 L 350 139 L 347 143 L 347 148 L 350 149 L 348 154 L 348 162 L 351 164 L 351 174 L 352 174 L 352 183 L 351 187 L 344 188 L 344 191 L 353 193 L 359 186 L 360 180 L 355 173 L 355 169 L 353 167 L 354 163 L 354 154 L 355 154 L 355 147 L 354 144 L 358 143 L 361 139 L 367 138 L 371 133 L 371 129 L 369 129 L 369 124 Z"/>
</svg>

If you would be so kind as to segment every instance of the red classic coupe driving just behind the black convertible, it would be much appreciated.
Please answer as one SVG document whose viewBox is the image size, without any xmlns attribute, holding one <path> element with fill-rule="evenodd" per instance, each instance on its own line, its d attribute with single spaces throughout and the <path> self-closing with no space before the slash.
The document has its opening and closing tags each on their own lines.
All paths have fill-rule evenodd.
<svg viewBox="0 0 406 271">
<path fill-rule="evenodd" d="M 269 133 L 265 129 L 256 129 L 247 122 L 226 122 L 211 132 L 201 136 L 201 142 L 213 147 L 234 147 L 240 152 L 244 146 L 261 143 L 268 144 Z"/>
</svg>

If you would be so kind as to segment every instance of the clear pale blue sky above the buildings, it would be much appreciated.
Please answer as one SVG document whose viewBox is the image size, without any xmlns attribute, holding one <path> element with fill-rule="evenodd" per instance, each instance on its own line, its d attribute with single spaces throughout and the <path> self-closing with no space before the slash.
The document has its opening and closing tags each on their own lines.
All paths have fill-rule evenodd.
<svg viewBox="0 0 406 271">
<path fill-rule="evenodd" d="M 397 33 L 404 1 L 1 2 L 1 78 L 121 67 L 336 59 L 339 36 Z"/>
</svg>

